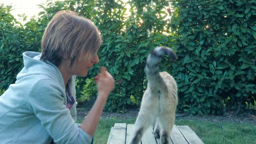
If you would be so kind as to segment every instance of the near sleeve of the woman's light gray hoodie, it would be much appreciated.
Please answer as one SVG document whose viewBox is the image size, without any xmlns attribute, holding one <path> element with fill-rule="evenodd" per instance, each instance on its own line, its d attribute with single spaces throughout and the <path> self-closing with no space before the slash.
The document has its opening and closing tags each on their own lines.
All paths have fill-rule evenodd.
<svg viewBox="0 0 256 144">
<path fill-rule="evenodd" d="M 55 143 L 91 143 L 92 137 L 71 117 L 63 93 L 63 88 L 53 80 L 40 80 L 34 84 L 28 97 L 30 109 Z"/>
</svg>

